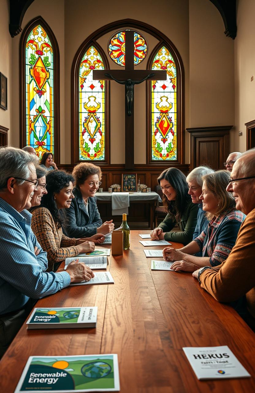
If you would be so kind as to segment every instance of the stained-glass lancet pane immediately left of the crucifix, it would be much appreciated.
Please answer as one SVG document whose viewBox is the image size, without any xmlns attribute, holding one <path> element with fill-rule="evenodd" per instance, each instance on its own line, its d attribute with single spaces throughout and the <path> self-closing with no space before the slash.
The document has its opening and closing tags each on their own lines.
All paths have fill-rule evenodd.
<svg viewBox="0 0 255 393">
<path fill-rule="evenodd" d="M 94 81 L 93 70 L 104 70 L 94 46 L 84 54 L 79 78 L 79 159 L 105 159 L 105 81 Z"/>
</svg>

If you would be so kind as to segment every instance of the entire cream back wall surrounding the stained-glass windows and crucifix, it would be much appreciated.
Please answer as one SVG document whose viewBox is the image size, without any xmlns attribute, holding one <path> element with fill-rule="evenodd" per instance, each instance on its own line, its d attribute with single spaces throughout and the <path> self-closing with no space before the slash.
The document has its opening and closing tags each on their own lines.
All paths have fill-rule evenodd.
<svg viewBox="0 0 255 393">
<path fill-rule="evenodd" d="M 7 0 L 4 0 L 7 3 Z M 250 0 L 251 1 L 251 0 Z M 41 15 L 51 26 L 60 49 L 60 149 L 61 163 L 71 162 L 71 66 L 80 44 L 104 24 L 123 18 L 139 19 L 159 29 L 177 47 L 185 72 L 185 128 L 234 124 L 234 43 L 224 35 L 219 11 L 209 0 L 162 0 L 155 10 L 154 0 L 129 0 L 128 7 L 117 0 L 35 0 L 25 13 L 22 28 Z M 106 50 L 111 33 L 98 41 Z M 12 138 L 19 143 L 19 42 L 20 35 L 6 40 L 12 42 Z M 144 33 L 149 53 L 157 40 Z M 5 40 L 5 41 L 6 41 Z M 0 43 L 2 40 L 0 39 Z M 146 59 L 147 61 L 147 59 Z M 146 61 L 140 64 L 145 68 Z M 117 65 L 109 60 L 111 68 Z M 146 84 L 135 86 L 135 163 L 146 163 Z M 123 105 L 120 105 L 120 103 Z M 138 106 L 139 104 L 139 106 Z M 118 109 L 116 111 L 116 108 Z M 1 123 L 0 123 L 1 124 Z M 124 86 L 111 83 L 111 163 L 124 162 Z M 231 143 L 232 143 L 231 135 Z M 233 143 L 232 143 L 233 145 Z M 185 162 L 189 163 L 189 134 L 185 131 Z"/>
</svg>

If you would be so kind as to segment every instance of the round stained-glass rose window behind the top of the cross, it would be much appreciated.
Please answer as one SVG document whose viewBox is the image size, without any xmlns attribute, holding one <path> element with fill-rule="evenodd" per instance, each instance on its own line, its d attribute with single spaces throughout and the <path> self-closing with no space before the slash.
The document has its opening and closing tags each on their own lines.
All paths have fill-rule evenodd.
<svg viewBox="0 0 255 393">
<path fill-rule="evenodd" d="M 134 65 L 143 61 L 147 55 L 148 44 L 146 39 L 134 31 Z M 125 30 L 118 31 L 108 43 L 108 52 L 111 59 L 119 66 L 125 66 Z"/>
</svg>

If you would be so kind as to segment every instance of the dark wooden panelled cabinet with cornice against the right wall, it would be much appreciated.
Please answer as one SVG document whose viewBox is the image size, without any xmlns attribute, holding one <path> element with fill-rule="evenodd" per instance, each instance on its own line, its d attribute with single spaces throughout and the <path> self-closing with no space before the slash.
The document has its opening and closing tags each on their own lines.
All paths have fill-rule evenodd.
<svg viewBox="0 0 255 393">
<path fill-rule="evenodd" d="M 229 130 L 232 125 L 187 128 L 190 134 L 190 170 L 199 165 L 225 169 L 223 163 L 229 155 Z"/>
</svg>

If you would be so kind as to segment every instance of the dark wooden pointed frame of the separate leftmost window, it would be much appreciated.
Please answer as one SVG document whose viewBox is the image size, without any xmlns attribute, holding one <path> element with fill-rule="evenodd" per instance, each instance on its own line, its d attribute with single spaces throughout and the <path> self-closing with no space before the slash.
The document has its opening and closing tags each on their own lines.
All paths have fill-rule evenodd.
<svg viewBox="0 0 255 393">
<path fill-rule="evenodd" d="M 53 48 L 53 91 L 54 91 L 54 160 L 60 163 L 60 112 L 59 112 L 59 95 L 60 95 L 60 68 L 59 68 L 59 48 L 56 37 L 41 16 L 32 19 L 24 28 L 20 37 L 20 147 L 26 145 L 26 43 L 27 37 L 31 31 L 38 25 L 41 25 L 46 31 Z"/>
</svg>

